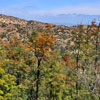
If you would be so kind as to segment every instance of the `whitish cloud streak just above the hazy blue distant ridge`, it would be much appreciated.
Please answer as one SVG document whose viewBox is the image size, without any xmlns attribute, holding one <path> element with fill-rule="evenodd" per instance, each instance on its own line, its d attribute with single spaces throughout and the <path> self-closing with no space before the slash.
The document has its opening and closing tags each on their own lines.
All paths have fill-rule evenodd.
<svg viewBox="0 0 100 100">
<path fill-rule="evenodd" d="M 88 7 L 88 6 L 74 6 L 64 7 L 53 10 L 39 10 L 30 12 L 33 15 L 58 15 L 58 14 L 86 14 L 86 15 L 100 15 L 100 7 Z"/>
</svg>

